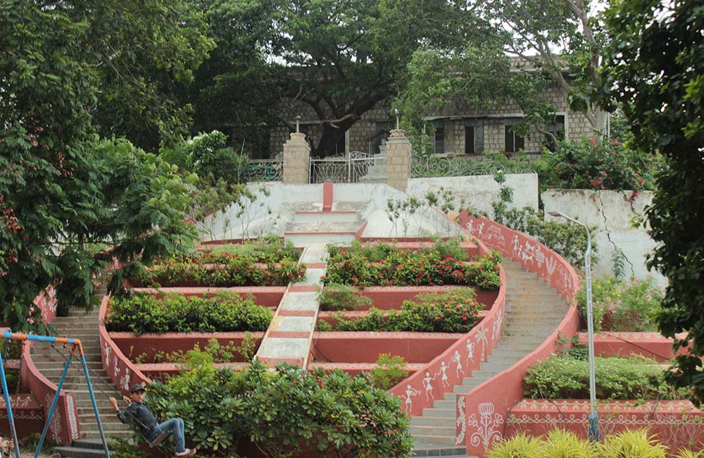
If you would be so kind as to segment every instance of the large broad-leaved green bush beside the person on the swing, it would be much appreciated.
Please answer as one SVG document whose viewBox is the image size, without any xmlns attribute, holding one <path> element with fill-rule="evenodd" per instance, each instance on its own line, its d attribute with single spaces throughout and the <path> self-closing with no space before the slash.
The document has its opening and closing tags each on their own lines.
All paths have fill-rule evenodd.
<svg viewBox="0 0 704 458">
<path fill-rule="evenodd" d="M 241 437 L 267 456 L 408 457 L 413 439 L 401 402 L 365 378 L 310 373 L 254 361 L 239 373 L 211 364 L 155 382 L 147 397 L 161 418 L 180 416 L 199 454 L 230 457 Z M 208 409 L 203 409 L 203 406 Z"/>
</svg>

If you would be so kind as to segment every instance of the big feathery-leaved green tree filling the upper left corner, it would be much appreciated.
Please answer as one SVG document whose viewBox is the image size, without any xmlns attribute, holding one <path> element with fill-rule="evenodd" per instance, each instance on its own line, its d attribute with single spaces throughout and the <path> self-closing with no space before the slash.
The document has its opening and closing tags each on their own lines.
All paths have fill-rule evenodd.
<svg viewBox="0 0 704 458">
<path fill-rule="evenodd" d="M 175 168 L 126 140 L 99 141 L 93 124 L 107 87 L 119 86 L 119 97 L 145 90 L 136 73 L 123 75 L 131 69 L 120 61 L 134 52 L 151 49 L 164 69 L 187 72 L 195 63 L 157 51 L 158 42 L 177 39 L 159 27 L 149 36 L 112 30 L 127 18 L 148 25 L 137 19 L 146 11 L 158 24 L 163 8 L 158 0 L 0 1 L 0 312 L 15 330 L 36 323 L 32 301 L 47 285 L 65 306 L 89 307 L 112 256 L 124 264 L 113 273 L 117 290 L 125 275 L 195 236 Z M 106 82 L 113 73 L 124 78 Z M 142 113 L 142 122 L 156 122 L 153 114 Z"/>
</svg>

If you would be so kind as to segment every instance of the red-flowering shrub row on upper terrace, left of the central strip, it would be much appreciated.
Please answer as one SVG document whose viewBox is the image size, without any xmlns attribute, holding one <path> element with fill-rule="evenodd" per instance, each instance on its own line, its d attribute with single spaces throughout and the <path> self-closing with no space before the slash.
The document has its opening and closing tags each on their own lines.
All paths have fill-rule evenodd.
<svg viewBox="0 0 704 458">
<path fill-rule="evenodd" d="M 266 265 L 237 254 L 197 254 L 166 259 L 146 273 L 142 282 L 162 286 L 194 283 L 208 286 L 284 286 L 306 277 L 306 266 L 283 259 Z"/>
</svg>

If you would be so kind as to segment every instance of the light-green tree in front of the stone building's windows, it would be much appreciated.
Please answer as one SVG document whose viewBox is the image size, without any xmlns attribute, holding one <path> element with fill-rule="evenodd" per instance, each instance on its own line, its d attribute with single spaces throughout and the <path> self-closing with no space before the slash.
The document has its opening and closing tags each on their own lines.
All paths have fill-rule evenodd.
<svg viewBox="0 0 704 458">
<path fill-rule="evenodd" d="M 517 131 L 535 130 L 554 142 L 543 125 L 553 123 L 557 107 L 541 100 L 541 93 L 550 85 L 570 94 L 599 83 L 596 69 L 604 39 L 589 4 L 492 0 L 468 5 L 458 11 L 468 20 L 459 23 L 455 39 L 445 47 L 416 51 L 398 105 L 417 123 L 422 113 L 453 101 L 477 109 L 513 101 L 525 115 Z M 511 57 L 519 59 L 512 62 Z M 586 109 L 586 102 L 579 101 L 579 108 Z M 603 117 L 591 111 L 586 116 L 593 128 L 603 128 Z"/>
</svg>

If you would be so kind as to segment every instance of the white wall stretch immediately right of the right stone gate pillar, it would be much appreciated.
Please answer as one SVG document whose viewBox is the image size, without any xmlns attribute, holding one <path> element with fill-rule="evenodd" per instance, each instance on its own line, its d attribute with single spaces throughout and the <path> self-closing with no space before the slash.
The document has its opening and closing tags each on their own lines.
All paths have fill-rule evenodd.
<svg viewBox="0 0 704 458">
<path fill-rule="evenodd" d="M 512 173 L 505 175 L 505 186 L 513 188 L 513 206 L 522 209 L 530 206 L 538 209 L 538 175 L 537 173 Z M 474 209 L 485 211 L 491 218 L 494 211 L 491 202 L 498 199 L 501 188 L 494 175 L 472 175 L 466 177 L 443 178 L 412 178 L 408 180 L 406 193 L 425 199 L 428 191 L 439 192 L 440 187 L 451 190 L 453 196 L 459 201 L 465 199 Z"/>
</svg>

